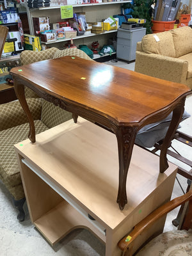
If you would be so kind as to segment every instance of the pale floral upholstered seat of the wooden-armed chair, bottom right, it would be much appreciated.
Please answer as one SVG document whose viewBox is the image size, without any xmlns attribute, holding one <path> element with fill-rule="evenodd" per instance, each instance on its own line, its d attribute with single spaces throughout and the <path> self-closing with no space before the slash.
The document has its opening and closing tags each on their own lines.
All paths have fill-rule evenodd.
<svg viewBox="0 0 192 256">
<path fill-rule="evenodd" d="M 136 256 L 191 256 L 192 230 L 165 232 L 146 244 Z"/>
</svg>

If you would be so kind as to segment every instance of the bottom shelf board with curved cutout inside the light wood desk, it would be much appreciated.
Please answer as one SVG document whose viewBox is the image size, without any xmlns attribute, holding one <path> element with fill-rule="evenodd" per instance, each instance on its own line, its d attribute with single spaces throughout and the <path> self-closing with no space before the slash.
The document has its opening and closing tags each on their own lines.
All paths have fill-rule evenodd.
<svg viewBox="0 0 192 256">
<path fill-rule="evenodd" d="M 106 236 L 100 234 L 91 221 L 86 220 L 82 214 L 65 200 L 56 205 L 51 211 L 38 218 L 38 220 L 34 221 L 34 224 L 52 245 L 56 244 L 76 228 L 95 230 L 94 233 L 97 234 L 102 241 L 106 242 Z"/>
</svg>

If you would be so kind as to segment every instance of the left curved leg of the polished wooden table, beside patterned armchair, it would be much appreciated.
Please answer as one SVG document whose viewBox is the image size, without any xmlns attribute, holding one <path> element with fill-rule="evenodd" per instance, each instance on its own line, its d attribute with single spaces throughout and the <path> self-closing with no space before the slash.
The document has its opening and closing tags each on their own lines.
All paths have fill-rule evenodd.
<svg viewBox="0 0 192 256">
<path fill-rule="evenodd" d="M 34 120 L 31 115 L 31 111 L 29 110 L 28 103 L 26 102 L 26 96 L 24 92 L 24 85 L 20 84 L 17 79 L 14 79 L 14 88 L 15 93 L 17 95 L 17 98 L 19 99 L 20 105 L 24 109 L 24 112 L 26 113 L 26 116 L 29 120 L 29 135 L 28 138 L 31 140 L 31 142 L 35 142 L 35 125 Z"/>
</svg>

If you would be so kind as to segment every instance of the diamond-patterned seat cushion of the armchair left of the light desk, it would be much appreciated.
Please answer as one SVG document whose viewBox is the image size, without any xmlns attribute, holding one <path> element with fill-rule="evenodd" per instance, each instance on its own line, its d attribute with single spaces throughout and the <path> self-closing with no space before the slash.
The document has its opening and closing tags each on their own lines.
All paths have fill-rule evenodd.
<svg viewBox="0 0 192 256">
<path fill-rule="evenodd" d="M 35 120 L 36 134 L 48 129 L 40 120 Z M 9 188 L 21 184 L 19 166 L 13 145 L 28 138 L 29 124 L 18 125 L 0 131 L 0 177 Z"/>
</svg>

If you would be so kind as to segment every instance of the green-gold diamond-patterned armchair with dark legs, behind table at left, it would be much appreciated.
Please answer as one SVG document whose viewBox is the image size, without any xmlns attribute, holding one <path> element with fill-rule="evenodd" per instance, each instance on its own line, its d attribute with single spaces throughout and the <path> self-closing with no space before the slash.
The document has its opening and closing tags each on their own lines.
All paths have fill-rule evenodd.
<svg viewBox="0 0 192 256">
<path fill-rule="evenodd" d="M 36 61 L 59 58 L 61 56 L 79 56 L 91 60 L 79 49 L 50 48 L 45 51 L 23 51 L 20 54 L 22 65 Z M 43 132 L 72 118 L 72 114 L 54 106 L 26 88 L 26 99 L 35 120 L 36 133 Z M 13 196 L 13 202 L 19 214 L 18 220 L 24 220 L 24 190 L 20 179 L 19 166 L 13 145 L 28 138 L 29 124 L 18 100 L 0 105 L 0 179 Z"/>
</svg>

